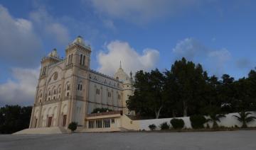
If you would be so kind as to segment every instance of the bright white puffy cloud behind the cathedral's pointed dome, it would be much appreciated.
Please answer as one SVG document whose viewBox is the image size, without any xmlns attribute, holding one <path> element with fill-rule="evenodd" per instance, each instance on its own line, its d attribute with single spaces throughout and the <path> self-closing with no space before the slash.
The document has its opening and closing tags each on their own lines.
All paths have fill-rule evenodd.
<svg viewBox="0 0 256 150">
<path fill-rule="evenodd" d="M 112 41 L 107 45 L 107 52 L 100 52 L 97 56 L 100 64 L 99 71 L 105 74 L 113 75 L 119 68 L 119 62 L 122 62 L 124 71 L 136 72 L 140 69 L 149 71 L 156 67 L 159 60 L 159 51 L 146 48 L 143 54 L 138 54 L 129 43 L 118 40 Z"/>
</svg>

